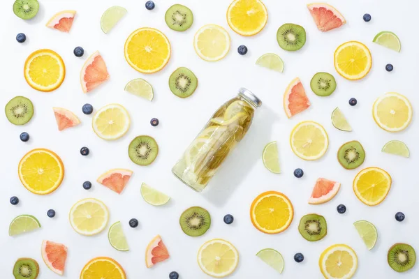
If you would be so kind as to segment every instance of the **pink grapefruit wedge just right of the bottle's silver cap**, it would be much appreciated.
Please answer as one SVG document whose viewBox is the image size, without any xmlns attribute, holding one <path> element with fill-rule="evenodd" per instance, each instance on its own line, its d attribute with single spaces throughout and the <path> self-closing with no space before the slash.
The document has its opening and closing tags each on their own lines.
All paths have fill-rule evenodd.
<svg viewBox="0 0 419 279">
<path fill-rule="evenodd" d="M 290 118 L 295 114 L 304 112 L 310 106 L 309 98 L 304 91 L 304 87 L 298 77 L 296 77 L 286 88 L 284 93 L 284 110 L 286 116 Z"/>
</svg>

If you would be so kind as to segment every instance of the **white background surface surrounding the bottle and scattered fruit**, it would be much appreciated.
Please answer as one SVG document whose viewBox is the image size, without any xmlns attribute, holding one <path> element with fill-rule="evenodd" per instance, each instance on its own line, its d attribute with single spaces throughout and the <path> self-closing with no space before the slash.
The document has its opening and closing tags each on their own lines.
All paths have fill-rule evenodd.
<svg viewBox="0 0 419 279">
<path fill-rule="evenodd" d="M 340 29 L 321 33 L 316 28 L 307 0 L 265 0 L 269 13 L 267 26 L 258 35 L 245 38 L 234 33 L 226 22 L 226 10 L 230 1 L 182 0 L 193 10 L 194 22 L 186 32 L 172 31 L 164 22 L 166 9 L 176 1 L 156 0 L 152 11 L 142 1 L 46 1 L 40 0 L 41 8 L 34 20 L 20 20 L 13 14 L 13 1 L 0 2 L 0 106 L 17 95 L 30 98 L 35 106 L 34 118 L 26 126 L 13 126 L 6 116 L 0 117 L 0 273 L 1 278 L 12 278 L 13 264 L 18 257 L 33 257 L 41 267 L 39 278 L 59 278 L 41 259 L 43 239 L 64 243 L 68 246 L 68 258 L 64 278 L 78 278 L 84 264 L 98 256 L 116 259 L 124 267 L 128 278 L 168 278 L 170 271 L 178 271 L 182 279 L 209 278 L 200 271 L 196 262 L 198 248 L 205 241 L 223 238 L 231 241 L 240 252 L 240 264 L 230 278 L 322 278 L 318 269 L 318 257 L 328 246 L 346 243 L 358 255 L 358 271 L 355 278 L 413 278 L 418 265 L 409 272 L 398 274 L 387 264 L 388 248 L 393 243 L 410 243 L 419 252 L 417 216 L 418 195 L 418 123 L 416 112 L 411 126 L 402 133 L 390 134 L 376 126 L 372 119 L 372 104 L 383 93 L 397 91 L 407 96 L 413 108 L 419 101 L 416 82 L 418 70 L 418 40 L 416 36 L 415 1 L 354 0 L 329 3 L 346 17 L 347 24 Z M 409 3 L 409 5 L 408 5 Z M 122 22 L 108 35 L 100 28 L 100 18 L 110 6 L 120 5 L 128 10 Z M 71 33 L 48 29 L 45 23 L 60 10 L 77 10 Z M 364 13 L 372 15 L 372 21 L 362 20 Z M 276 33 L 281 24 L 301 24 L 307 31 L 307 43 L 297 52 L 285 52 L 277 44 Z M 225 59 L 210 63 L 201 60 L 193 50 L 193 35 L 204 24 L 219 24 L 231 36 L 230 53 Z M 124 60 L 124 42 L 128 35 L 140 27 L 155 27 L 168 36 L 172 45 L 170 62 L 159 73 L 142 75 Z M 397 53 L 372 43 L 378 31 L 390 30 L 402 41 L 402 52 Z M 17 33 L 26 33 L 27 42 L 17 43 Z M 351 82 L 340 77 L 333 67 L 333 52 L 341 43 L 359 40 L 372 52 L 372 70 L 363 80 Z M 246 56 L 237 54 L 239 45 L 247 45 Z M 82 58 L 73 55 L 76 46 L 84 47 Z M 23 77 L 24 60 L 31 52 L 50 48 L 58 52 L 66 63 L 66 79 L 59 89 L 42 93 L 31 89 Z M 99 50 L 108 65 L 110 80 L 99 89 L 84 94 L 79 82 L 80 69 L 87 57 Z M 276 73 L 255 65 L 258 56 L 274 52 L 284 59 L 284 73 Z M 395 70 L 385 71 L 385 64 L 392 63 Z M 193 70 L 199 80 L 196 93 L 182 100 L 168 88 L 168 77 L 179 66 Z M 311 92 L 309 82 L 314 73 L 326 71 L 335 75 L 337 90 L 332 96 L 321 98 Z M 149 103 L 124 92 L 125 84 L 142 77 L 154 87 L 154 100 Z M 312 106 L 309 110 L 287 119 L 282 107 L 284 90 L 291 80 L 300 77 Z M 170 169 L 186 146 L 203 127 L 212 112 L 226 100 L 233 98 L 240 86 L 247 87 L 263 100 L 263 107 L 256 113 L 253 126 L 246 138 L 230 155 L 219 174 L 214 177 L 205 193 L 195 193 L 175 179 Z M 358 99 L 356 107 L 348 105 L 348 99 Z M 131 115 L 131 128 L 122 139 L 106 142 L 91 129 L 91 117 L 82 114 L 82 105 L 91 103 L 95 111 L 109 103 L 120 103 Z M 330 114 L 338 107 L 353 127 L 352 133 L 344 133 L 332 126 Z M 81 125 L 59 132 L 52 107 L 65 107 L 75 112 Z M 150 126 L 152 117 L 160 119 L 156 128 Z M 288 137 L 292 128 L 304 120 L 323 124 L 330 137 L 330 146 L 321 160 L 306 162 L 291 151 Z M 19 140 L 27 131 L 29 142 Z M 137 135 L 152 135 L 160 146 L 156 161 L 149 167 L 131 163 L 127 147 Z M 261 160 L 263 147 L 276 140 L 279 144 L 282 174 L 271 174 Z M 344 142 L 359 140 L 367 152 L 362 167 L 378 166 L 387 170 L 393 179 L 390 194 L 379 206 L 368 207 L 353 194 L 352 181 L 360 169 L 343 169 L 336 159 L 337 149 Z M 381 153 L 381 147 L 389 140 L 402 140 L 411 150 L 411 158 L 399 158 Z M 80 155 L 82 146 L 91 153 Z M 31 149 L 45 147 L 55 151 L 64 161 L 66 174 L 61 187 L 51 195 L 38 196 L 29 193 L 17 176 L 20 158 Z M 96 178 L 112 168 L 132 169 L 134 174 L 121 195 L 96 183 Z M 304 177 L 296 179 L 293 170 L 304 169 Z M 362 168 L 361 167 L 361 168 Z M 309 205 L 316 179 L 341 182 L 341 190 L 332 201 L 323 205 Z M 93 187 L 82 188 L 83 181 L 92 181 Z M 140 196 L 142 182 L 172 197 L 169 204 L 150 206 Z M 266 190 L 278 190 L 293 202 L 295 216 L 291 227 L 277 235 L 258 232 L 249 219 L 252 200 Z M 18 206 L 8 200 L 16 195 Z M 79 199 L 96 197 L 103 200 L 110 210 L 110 222 L 122 221 L 131 250 L 119 252 L 108 243 L 107 232 L 97 236 L 81 236 L 73 231 L 68 222 L 68 211 Z M 346 204 L 347 212 L 340 215 L 338 204 Z M 191 238 L 179 227 L 179 216 L 189 206 L 203 206 L 210 211 L 212 226 L 203 236 Z M 47 210 L 57 212 L 55 218 L 47 217 Z M 398 223 L 397 211 L 406 214 L 406 220 Z M 36 232 L 16 237 L 8 236 L 8 225 L 15 216 L 29 213 L 36 216 L 42 228 Z M 223 223 L 223 216 L 231 213 L 233 225 Z M 321 241 L 310 243 L 297 232 L 297 225 L 307 213 L 319 213 L 328 221 L 328 235 Z M 128 226 L 128 220 L 138 218 L 136 229 Z M 369 220 L 378 229 L 376 247 L 368 251 L 353 222 Z M 109 227 L 109 225 L 108 225 Z M 107 227 L 107 229 L 108 229 Z M 161 234 L 170 252 L 170 259 L 154 266 L 145 267 L 147 243 Z M 263 248 L 279 250 L 285 259 L 281 276 L 265 265 L 255 255 Z M 304 254 L 304 262 L 293 260 L 296 252 Z M 416 275 L 417 276 L 417 275 Z"/>
</svg>

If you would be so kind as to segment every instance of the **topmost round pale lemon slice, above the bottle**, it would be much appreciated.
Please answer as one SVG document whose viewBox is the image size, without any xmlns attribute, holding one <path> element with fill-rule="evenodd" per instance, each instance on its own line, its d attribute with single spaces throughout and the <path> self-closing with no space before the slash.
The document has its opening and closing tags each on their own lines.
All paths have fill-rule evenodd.
<svg viewBox="0 0 419 279">
<path fill-rule="evenodd" d="M 207 24 L 196 32 L 193 47 L 200 58 L 206 61 L 218 61 L 230 50 L 230 35 L 223 27 Z"/>
</svg>

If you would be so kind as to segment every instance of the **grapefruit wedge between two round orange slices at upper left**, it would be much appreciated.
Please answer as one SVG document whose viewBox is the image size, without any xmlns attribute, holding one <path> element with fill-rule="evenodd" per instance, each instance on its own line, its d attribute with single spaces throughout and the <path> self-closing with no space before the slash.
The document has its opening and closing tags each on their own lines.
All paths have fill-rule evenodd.
<svg viewBox="0 0 419 279">
<path fill-rule="evenodd" d="M 80 72 L 80 83 L 84 93 L 90 92 L 109 80 L 108 68 L 99 52 L 91 54 Z"/>
</svg>

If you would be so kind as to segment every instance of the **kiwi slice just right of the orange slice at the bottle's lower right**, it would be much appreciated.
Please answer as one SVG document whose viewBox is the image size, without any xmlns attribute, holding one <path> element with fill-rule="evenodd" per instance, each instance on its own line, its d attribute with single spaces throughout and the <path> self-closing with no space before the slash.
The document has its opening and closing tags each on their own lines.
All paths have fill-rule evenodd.
<svg viewBox="0 0 419 279">
<path fill-rule="evenodd" d="M 328 224 L 321 215 L 307 214 L 302 216 L 298 232 L 308 241 L 319 241 L 328 233 Z"/>
</svg>

